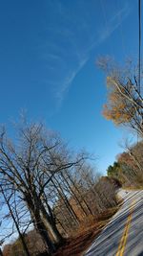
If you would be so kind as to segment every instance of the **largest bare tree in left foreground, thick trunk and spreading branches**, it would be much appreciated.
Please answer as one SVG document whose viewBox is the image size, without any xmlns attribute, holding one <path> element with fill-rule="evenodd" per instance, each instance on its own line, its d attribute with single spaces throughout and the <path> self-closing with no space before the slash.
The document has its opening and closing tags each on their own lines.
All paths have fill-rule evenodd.
<svg viewBox="0 0 143 256">
<path fill-rule="evenodd" d="M 18 129 L 19 139 L 14 145 L 3 129 L 0 137 L 0 175 L 14 186 L 18 197 L 25 201 L 31 220 L 49 247 L 54 251 L 63 238 L 54 221 L 50 203 L 45 204 L 53 177 L 83 159 L 70 160 L 63 150 L 61 139 L 42 125 L 25 125 Z"/>
</svg>

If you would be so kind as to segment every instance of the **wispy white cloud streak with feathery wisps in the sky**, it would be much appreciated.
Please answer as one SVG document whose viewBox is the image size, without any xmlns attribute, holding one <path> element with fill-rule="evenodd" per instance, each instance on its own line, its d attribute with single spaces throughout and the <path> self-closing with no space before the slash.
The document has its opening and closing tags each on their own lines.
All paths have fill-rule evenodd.
<svg viewBox="0 0 143 256">
<path fill-rule="evenodd" d="M 72 81 L 87 63 L 92 50 L 112 35 L 129 15 L 131 8 L 125 2 L 120 10 L 110 16 L 106 26 L 101 29 L 100 24 L 94 28 L 86 8 L 83 15 L 77 15 L 68 10 L 63 2 L 58 2 L 57 21 L 53 20 L 45 29 L 49 39 L 43 47 L 42 58 L 45 59 L 47 67 L 45 81 L 53 86 L 54 99 L 58 105 L 61 105 Z"/>
</svg>

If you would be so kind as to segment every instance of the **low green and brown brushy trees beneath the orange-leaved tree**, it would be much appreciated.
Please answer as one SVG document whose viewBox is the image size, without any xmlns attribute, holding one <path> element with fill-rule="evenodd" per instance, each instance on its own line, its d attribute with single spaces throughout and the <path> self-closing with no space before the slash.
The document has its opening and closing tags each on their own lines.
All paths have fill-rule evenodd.
<svg viewBox="0 0 143 256">
<path fill-rule="evenodd" d="M 109 166 L 107 173 L 126 187 L 143 186 L 143 141 L 126 146 L 126 151 L 117 155 L 117 161 Z"/>
</svg>

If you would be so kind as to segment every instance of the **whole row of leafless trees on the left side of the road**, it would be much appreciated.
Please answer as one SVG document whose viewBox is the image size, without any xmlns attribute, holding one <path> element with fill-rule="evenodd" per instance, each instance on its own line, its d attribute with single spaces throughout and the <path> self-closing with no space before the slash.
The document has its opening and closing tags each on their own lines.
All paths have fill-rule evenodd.
<svg viewBox="0 0 143 256">
<path fill-rule="evenodd" d="M 19 236 L 4 255 L 38 255 L 31 229 L 43 241 L 38 249 L 51 255 L 82 221 L 116 204 L 116 182 L 100 179 L 88 153 L 70 151 L 43 125 L 23 123 L 16 131 L 14 142 L 5 128 L 0 133 L 1 228 L 12 223 L 7 234 L 1 231 L 1 244 L 14 232 Z"/>
</svg>

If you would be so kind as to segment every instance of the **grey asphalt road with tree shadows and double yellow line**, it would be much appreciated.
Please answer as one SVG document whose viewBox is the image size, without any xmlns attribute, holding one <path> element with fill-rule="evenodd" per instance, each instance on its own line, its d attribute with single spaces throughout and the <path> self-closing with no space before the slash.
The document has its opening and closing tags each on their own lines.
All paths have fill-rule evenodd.
<svg viewBox="0 0 143 256">
<path fill-rule="evenodd" d="M 85 256 L 143 256 L 143 191 L 119 195 L 123 205 Z"/>
</svg>

